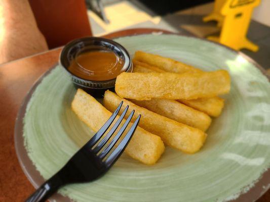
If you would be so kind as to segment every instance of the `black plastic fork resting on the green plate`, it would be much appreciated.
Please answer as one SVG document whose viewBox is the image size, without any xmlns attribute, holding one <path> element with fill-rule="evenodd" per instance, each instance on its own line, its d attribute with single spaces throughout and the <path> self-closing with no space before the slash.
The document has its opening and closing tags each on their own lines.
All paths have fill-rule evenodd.
<svg viewBox="0 0 270 202">
<path fill-rule="evenodd" d="M 126 136 L 110 153 L 115 143 L 117 143 L 119 138 L 126 130 L 134 114 L 133 110 L 117 134 L 108 144 L 106 144 L 110 137 L 114 134 L 115 130 L 117 130 L 128 111 L 129 106 L 125 108 L 120 118 L 115 122 L 115 124 L 111 127 L 104 138 L 101 139 L 103 134 L 112 124 L 115 117 L 118 115 L 122 104 L 123 102 L 120 103 L 118 108 L 112 113 L 111 117 L 99 129 L 99 131 L 79 151 L 77 151 L 77 153 L 74 154 L 74 156 L 61 170 L 59 170 L 54 176 L 52 176 L 40 188 L 38 188 L 29 198 L 26 199 L 27 202 L 45 201 L 61 186 L 71 183 L 90 182 L 101 177 L 111 168 L 111 166 L 118 160 L 128 145 L 141 117 L 140 115 L 137 117 L 136 121 L 126 133 Z M 103 147 L 105 148 L 100 152 Z"/>
</svg>

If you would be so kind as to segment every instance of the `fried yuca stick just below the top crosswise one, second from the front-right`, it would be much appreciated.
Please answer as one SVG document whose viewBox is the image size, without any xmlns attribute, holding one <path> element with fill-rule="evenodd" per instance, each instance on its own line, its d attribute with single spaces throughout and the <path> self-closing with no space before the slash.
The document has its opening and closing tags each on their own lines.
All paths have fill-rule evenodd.
<svg viewBox="0 0 270 202">
<path fill-rule="evenodd" d="M 172 99 L 135 100 L 134 104 L 152 112 L 173 119 L 188 126 L 206 131 L 211 124 L 211 118 L 198 110 L 187 107 Z"/>
</svg>

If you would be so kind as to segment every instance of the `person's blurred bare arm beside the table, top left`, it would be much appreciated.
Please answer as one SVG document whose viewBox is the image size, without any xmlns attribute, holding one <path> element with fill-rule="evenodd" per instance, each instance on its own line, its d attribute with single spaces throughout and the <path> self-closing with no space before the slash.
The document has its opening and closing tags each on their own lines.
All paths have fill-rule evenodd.
<svg viewBox="0 0 270 202">
<path fill-rule="evenodd" d="M 48 49 L 27 0 L 0 0 L 0 63 Z"/>
</svg>

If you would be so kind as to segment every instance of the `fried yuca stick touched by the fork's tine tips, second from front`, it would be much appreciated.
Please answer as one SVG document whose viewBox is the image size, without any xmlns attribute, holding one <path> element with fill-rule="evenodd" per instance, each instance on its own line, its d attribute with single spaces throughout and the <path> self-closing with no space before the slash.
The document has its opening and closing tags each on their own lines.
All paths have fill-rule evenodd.
<svg viewBox="0 0 270 202">
<path fill-rule="evenodd" d="M 103 105 L 113 111 L 121 101 L 124 106 L 129 105 L 129 112 L 135 110 L 135 117 L 141 114 L 140 127 L 159 135 L 166 144 L 190 154 L 196 153 L 203 146 L 207 136 L 203 131 L 141 108 L 109 90 L 105 92 Z"/>
</svg>

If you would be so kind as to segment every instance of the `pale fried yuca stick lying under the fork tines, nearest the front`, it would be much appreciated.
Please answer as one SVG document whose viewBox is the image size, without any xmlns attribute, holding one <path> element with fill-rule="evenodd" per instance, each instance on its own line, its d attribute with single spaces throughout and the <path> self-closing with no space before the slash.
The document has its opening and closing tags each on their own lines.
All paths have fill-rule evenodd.
<svg viewBox="0 0 270 202">
<path fill-rule="evenodd" d="M 75 114 L 95 132 L 109 119 L 111 113 L 82 89 L 78 89 L 71 104 Z M 123 108 L 123 107 L 122 107 Z M 113 110 L 114 111 L 114 110 Z M 117 116 L 116 119 L 119 119 Z M 122 121 L 122 124 L 125 120 Z M 129 124 L 130 127 L 132 124 Z M 121 126 L 119 126 L 120 128 Z M 125 152 L 144 164 L 155 164 L 164 152 L 164 143 L 157 135 L 137 127 Z"/>
</svg>

